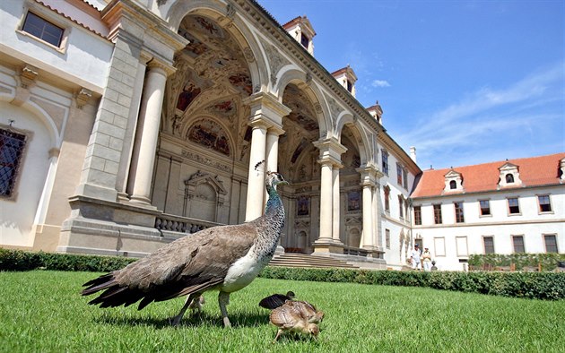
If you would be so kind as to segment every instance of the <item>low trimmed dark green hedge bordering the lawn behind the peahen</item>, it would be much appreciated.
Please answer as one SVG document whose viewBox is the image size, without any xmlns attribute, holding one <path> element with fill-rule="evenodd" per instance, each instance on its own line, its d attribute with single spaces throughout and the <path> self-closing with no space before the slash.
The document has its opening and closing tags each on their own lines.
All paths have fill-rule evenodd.
<svg viewBox="0 0 565 353">
<path fill-rule="evenodd" d="M 109 272 L 134 261 L 135 259 L 126 257 L 30 253 L 0 248 L 0 271 L 44 269 Z M 565 272 L 371 271 L 267 266 L 259 276 L 277 280 L 428 287 L 504 297 L 548 300 L 565 298 Z"/>
</svg>

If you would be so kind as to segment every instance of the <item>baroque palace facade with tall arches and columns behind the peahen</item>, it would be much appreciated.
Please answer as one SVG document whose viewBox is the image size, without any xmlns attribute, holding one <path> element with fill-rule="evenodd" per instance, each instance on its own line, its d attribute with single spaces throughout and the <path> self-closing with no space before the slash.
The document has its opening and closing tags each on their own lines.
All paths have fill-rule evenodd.
<svg viewBox="0 0 565 353">
<path fill-rule="evenodd" d="M 1 246 L 143 256 L 258 217 L 265 160 L 290 182 L 285 251 L 409 257 L 415 150 L 355 99 L 351 67 L 317 62 L 306 17 L 281 26 L 253 0 L 10 0 L 0 14 Z"/>
</svg>

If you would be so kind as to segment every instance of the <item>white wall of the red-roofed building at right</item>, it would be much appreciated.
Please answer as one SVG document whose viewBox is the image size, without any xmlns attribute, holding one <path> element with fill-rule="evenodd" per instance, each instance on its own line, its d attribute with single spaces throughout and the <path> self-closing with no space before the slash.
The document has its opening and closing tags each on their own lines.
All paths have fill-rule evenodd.
<svg viewBox="0 0 565 353">
<path fill-rule="evenodd" d="M 538 195 L 550 195 L 551 212 L 540 212 Z M 508 213 L 508 197 L 518 197 L 520 213 Z M 481 216 L 479 200 L 490 200 L 491 215 Z M 456 223 L 453 202 L 464 202 L 464 223 Z M 443 223 L 434 224 L 434 203 L 441 203 Z M 526 253 L 545 253 L 543 235 L 555 235 L 559 253 L 565 252 L 565 188 L 562 185 L 522 188 L 485 194 L 457 194 L 415 199 L 422 207 L 422 226 L 413 225 L 416 237 L 429 246 L 439 270 L 465 270 L 470 254 L 484 254 L 482 237 L 493 237 L 496 254 L 513 254 L 512 236 L 523 236 Z M 466 240 L 467 252 L 457 246 Z M 445 254 L 441 245 L 445 244 Z M 461 261 L 461 262 L 460 262 Z"/>
</svg>

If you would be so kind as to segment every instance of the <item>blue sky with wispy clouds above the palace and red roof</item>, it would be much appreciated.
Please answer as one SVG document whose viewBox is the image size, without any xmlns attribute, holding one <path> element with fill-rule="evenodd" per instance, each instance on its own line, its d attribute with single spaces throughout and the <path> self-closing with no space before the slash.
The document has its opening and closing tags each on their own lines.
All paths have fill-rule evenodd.
<svg viewBox="0 0 565 353">
<path fill-rule="evenodd" d="M 314 56 L 422 169 L 565 151 L 565 2 L 258 0 L 306 15 Z"/>
</svg>

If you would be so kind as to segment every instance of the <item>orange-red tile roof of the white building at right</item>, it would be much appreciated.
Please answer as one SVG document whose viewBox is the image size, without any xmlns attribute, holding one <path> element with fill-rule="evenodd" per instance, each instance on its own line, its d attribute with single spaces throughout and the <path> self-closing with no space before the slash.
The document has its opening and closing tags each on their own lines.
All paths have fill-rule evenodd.
<svg viewBox="0 0 565 353">
<path fill-rule="evenodd" d="M 560 185 L 562 184 L 560 180 L 561 159 L 564 158 L 565 152 L 561 152 L 548 156 L 509 159 L 474 166 L 456 167 L 453 168 L 453 170 L 461 173 L 464 190 L 459 192 L 454 191 L 448 194 L 496 191 L 499 185 L 499 168 L 506 163 L 517 165 L 522 184 L 506 186 L 504 188 L 505 190 L 524 186 Z M 448 174 L 449 170 L 451 170 L 451 168 L 424 170 L 411 197 L 443 195 L 445 175 Z"/>
</svg>

